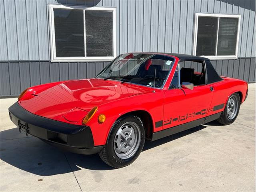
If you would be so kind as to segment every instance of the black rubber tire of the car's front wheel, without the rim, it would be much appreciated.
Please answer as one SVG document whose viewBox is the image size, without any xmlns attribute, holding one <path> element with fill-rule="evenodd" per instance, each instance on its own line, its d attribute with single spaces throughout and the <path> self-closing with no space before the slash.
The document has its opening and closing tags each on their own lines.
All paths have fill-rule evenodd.
<svg viewBox="0 0 256 192">
<path fill-rule="evenodd" d="M 140 139 L 138 139 L 139 146 L 136 152 L 130 158 L 122 159 L 118 157 L 115 152 L 114 140 L 116 138 L 116 134 L 118 130 L 120 130 L 120 128 L 122 128 L 122 126 L 127 122 L 134 122 L 138 125 L 140 130 Z M 108 164 L 109 166 L 114 168 L 121 168 L 124 166 L 128 166 L 129 164 L 134 162 L 136 158 L 138 158 L 138 156 L 140 155 L 140 152 L 143 149 L 144 143 L 145 143 L 145 130 L 144 130 L 144 125 L 142 123 L 142 120 L 140 120 L 140 118 L 138 118 L 137 116 L 133 116 L 133 115 L 124 116 L 116 120 L 116 122 L 113 124 L 110 130 L 110 134 L 108 136 L 108 140 L 106 144 L 103 146 L 102 150 L 99 152 L 99 155 L 102 161 Z"/>
</svg>

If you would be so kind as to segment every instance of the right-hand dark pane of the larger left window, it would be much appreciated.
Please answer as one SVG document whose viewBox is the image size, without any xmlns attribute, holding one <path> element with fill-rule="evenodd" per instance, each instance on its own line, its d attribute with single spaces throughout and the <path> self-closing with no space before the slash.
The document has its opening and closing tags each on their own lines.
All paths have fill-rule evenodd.
<svg viewBox="0 0 256 192">
<path fill-rule="evenodd" d="M 112 11 L 85 11 L 86 56 L 113 56 Z"/>
</svg>

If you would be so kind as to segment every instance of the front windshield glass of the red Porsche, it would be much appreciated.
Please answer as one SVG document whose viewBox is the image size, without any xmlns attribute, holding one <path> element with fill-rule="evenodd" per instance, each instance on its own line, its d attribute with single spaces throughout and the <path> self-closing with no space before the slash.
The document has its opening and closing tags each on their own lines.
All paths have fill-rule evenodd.
<svg viewBox="0 0 256 192">
<path fill-rule="evenodd" d="M 122 54 L 106 66 L 96 78 L 162 88 L 173 64 L 174 58 L 168 56 L 144 53 Z"/>
</svg>

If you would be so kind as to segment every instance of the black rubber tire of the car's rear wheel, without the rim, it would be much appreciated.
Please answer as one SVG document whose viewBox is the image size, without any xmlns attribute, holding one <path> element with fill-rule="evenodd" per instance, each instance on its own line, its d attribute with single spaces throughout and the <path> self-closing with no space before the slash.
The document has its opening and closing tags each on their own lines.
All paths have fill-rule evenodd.
<svg viewBox="0 0 256 192">
<path fill-rule="evenodd" d="M 230 119 L 228 117 L 228 113 L 227 113 L 227 108 L 228 108 L 228 102 L 227 102 L 224 111 L 221 113 L 220 117 L 217 119 L 217 121 L 220 124 L 223 124 L 223 125 L 232 124 L 236 120 L 236 118 L 238 116 L 238 113 L 239 113 L 239 110 L 240 110 L 240 97 L 239 97 L 238 93 L 232 94 L 228 98 L 228 101 L 229 101 L 230 98 L 233 98 L 234 101 L 236 102 L 237 111 L 236 111 L 236 114 L 234 114 L 234 117 L 232 119 Z"/>
</svg>

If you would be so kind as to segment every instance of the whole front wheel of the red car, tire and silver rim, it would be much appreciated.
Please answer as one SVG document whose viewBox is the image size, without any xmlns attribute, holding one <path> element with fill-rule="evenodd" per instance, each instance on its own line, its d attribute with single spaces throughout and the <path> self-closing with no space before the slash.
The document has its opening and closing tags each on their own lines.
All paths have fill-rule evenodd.
<svg viewBox="0 0 256 192">
<path fill-rule="evenodd" d="M 109 166 L 121 168 L 138 158 L 144 143 L 145 130 L 140 118 L 124 116 L 112 126 L 107 143 L 99 155 Z"/>
</svg>

